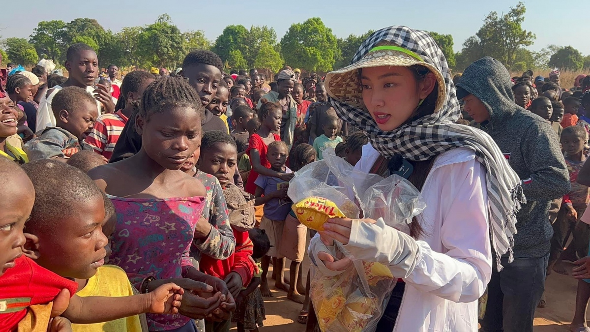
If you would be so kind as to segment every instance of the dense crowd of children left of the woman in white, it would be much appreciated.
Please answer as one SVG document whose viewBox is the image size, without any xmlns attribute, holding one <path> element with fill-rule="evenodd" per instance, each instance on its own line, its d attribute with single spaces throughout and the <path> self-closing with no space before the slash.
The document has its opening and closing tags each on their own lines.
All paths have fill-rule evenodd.
<svg viewBox="0 0 590 332">
<path fill-rule="evenodd" d="M 342 136 L 319 77 L 267 84 L 194 51 L 186 80 L 120 81 L 85 44 L 67 63 L 68 79 L 17 70 L 0 88 L 0 331 L 256 331 L 271 262 L 305 323 L 289 180 L 338 144 L 354 165 L 368 141 Z"/>
</svg>

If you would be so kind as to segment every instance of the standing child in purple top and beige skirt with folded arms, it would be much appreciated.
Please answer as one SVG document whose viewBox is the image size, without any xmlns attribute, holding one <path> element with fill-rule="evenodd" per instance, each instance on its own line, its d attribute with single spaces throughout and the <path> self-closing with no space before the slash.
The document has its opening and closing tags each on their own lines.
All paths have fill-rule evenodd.
<svg viewBox="0 0 590 332">
<path fill-rule="evenodd" d="M 289 167 L 285 166 L 287 157 L 289 157 L 289 150 L 285 142 L 277 140 L 268 145 L 266 159 L 271 171 L 278 174 L 293 174 Z M 287 196 L 289 182 L 283 180 L 283 178 L 260 174 L 254 184 L 256 185 L 255 204 L 257 206 L 264 204 L 264 216 L 260 228 L 266 230 L 272 246 L 268 254 L 262 259 L 263 272 L 260 291 L 263 297 L 273 297 L 266 278 L 271 258 L 273 259 L 273 275 L 276 275 L 274 286 L 283 289 L 283 291 L 289 291 L 284 282 L 285 258 L 281 255 L 280 243 L 283 237 L 284 222 L 292 204 Z M 294 280 L 291 279 L 291 282 L 294 283 Z"/>
</svg>

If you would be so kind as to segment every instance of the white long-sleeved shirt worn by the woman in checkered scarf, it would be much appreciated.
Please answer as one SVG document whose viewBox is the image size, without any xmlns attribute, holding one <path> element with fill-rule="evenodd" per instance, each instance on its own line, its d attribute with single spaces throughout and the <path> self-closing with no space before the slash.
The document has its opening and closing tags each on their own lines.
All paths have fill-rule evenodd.
<svg viewBox="0 0 590 332">
<path fill-rule="evenodd" d="M 355 168 L 369 172 L 378 156 L 365 145 Z M 415 267 L 403 278 L 406 288 L 395 332 L 477 331 L 477 299 L 490 280 L 492 264 L 485 177 L 483 165 L 468 149 L 453 149 L 434 161 L 421 191 L 427 204 L 418 216 L 424 235 L 417 241 Z M 388 238 L 394 232 L 383 220 L 356 223 L 345 248 L 357 259 L 391 262 Z M 317 259 L 322 248 L 319 236 L 314 237 L 310 255 L 320 271 L 335 275 Z"/>
</svg>

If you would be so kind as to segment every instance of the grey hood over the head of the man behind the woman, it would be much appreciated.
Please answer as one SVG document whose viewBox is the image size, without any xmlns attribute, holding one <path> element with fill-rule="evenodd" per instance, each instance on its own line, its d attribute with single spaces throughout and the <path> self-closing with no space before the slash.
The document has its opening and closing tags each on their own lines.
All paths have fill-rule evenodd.
<svg viewBox="0 0 590 332">
<path fill-rule="evenodd" d="M 501 122 L 517 110 L 524 110 L 514 102 L 508 70 L 494 58 L 484 57 L 470 64 L 457 87 L 465 89 L 486 105 L 490 122 Z"/>
</svg>

